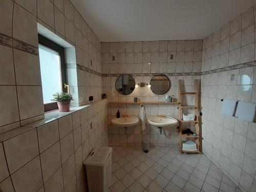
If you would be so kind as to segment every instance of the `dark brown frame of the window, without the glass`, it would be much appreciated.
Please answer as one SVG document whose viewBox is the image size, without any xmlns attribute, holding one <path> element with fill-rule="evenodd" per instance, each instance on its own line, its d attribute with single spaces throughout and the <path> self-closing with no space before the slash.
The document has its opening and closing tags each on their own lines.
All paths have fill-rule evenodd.
<svg viewBox="0 0 256 192">
<path fill-rule="evenodd" d="M 50 39 L 38 34 L 38 44 L 45 46 L 48 49 L 56 51 L 60 57 L 60 73 L 61 73 L 61 83 L 62 83 L 62 91 L 67 92 L 64 84 L 66 82 L 66 63 L 65 63 L 65 49 Z M 39 48 L 38 48 L 39 49 Z M 40 57 L 40 55 L 39 55 Z M 52 111 L 58 109 L 57 102 L 45 103 L 44 104 L 45 112 Z"/>
</svg>

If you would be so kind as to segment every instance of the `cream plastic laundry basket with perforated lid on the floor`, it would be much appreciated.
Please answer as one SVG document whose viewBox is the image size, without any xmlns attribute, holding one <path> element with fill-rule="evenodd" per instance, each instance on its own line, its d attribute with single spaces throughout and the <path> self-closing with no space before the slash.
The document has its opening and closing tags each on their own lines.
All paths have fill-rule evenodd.
<svg viewBox="0 0 256 192">
<path fill-rule="evenodd" d="M 98 147 L 84 162 L 90 192 L 106 192 L 111 182 L 112 147 Z"/>
</svg>

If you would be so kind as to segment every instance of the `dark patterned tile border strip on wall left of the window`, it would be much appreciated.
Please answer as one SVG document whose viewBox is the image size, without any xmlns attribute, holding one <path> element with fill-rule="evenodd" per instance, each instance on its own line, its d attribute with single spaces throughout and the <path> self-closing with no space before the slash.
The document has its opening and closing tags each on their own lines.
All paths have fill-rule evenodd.
<svg viewBox="0 0 256 192">
<path fill-rule="evenodd" d="M 2 33 L 0 33 L 0 44 L 12 47 L 13 49 L 18 49 L 27 53 L 31 53 L 33 55 L 39 55 L 38 47 L 32 46 L 30 44 L 27 44 L 26 42 L 9 37 Z"/>
</svg>

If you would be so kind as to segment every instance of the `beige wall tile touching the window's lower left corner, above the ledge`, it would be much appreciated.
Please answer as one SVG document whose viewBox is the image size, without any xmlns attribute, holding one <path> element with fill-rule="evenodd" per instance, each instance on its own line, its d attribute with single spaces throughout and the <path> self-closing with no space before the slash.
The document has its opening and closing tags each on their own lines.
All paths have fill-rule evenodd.
<svg viewBox="0 0 256 192">
<path fill-rule="evenodd" d="M 40 86 L 17 86 L 17 95 L 21 120 L 44 114 Z"/>
</svg>

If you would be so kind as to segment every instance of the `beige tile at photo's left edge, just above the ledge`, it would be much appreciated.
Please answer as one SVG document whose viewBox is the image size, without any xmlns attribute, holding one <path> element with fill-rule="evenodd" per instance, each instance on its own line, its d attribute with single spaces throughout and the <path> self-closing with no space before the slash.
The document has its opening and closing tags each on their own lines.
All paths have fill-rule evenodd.
<svg viewBox="0 0 256 192">
<path fill-rule="evenodd" d="M 19 120 L 15 86 L 0 86 L 0 126 Z"/>
</svg>

